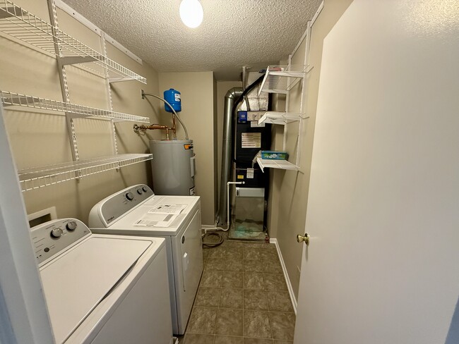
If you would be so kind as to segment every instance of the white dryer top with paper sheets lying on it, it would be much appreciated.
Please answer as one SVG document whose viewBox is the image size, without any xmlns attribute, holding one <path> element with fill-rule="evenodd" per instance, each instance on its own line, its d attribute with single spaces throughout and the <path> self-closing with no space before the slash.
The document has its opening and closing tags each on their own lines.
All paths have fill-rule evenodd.
<svg viewBox="0 0 459 344">
<path fill-rule="evenodd" d="M 183 207 L 180 207 L 181 205 Z M 169 207 L 176 211 L 155 210 L 165 208 L 165 206 L 177 206 Z M 184 223 L 191 219 L 199 206 L 199 196 L 153 196 L 111 223 L 107 227 L 109 231 L 99 231 L 97 228 L 94 228 L 94 231 L 124 235 L 175 236 L 181 231 Z M 179 209 L 181 210 L 178 211 Z"/>
</svg>

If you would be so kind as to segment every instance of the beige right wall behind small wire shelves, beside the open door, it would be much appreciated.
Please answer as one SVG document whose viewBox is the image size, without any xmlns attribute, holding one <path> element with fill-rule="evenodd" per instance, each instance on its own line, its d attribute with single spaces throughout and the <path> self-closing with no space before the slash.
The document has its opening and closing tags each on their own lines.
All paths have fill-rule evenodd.
<svg viewBox="0 0 459 344">
<path fill-rule="evenodd" d="M 309 173 L 311 171 L 311 155 L 314 139 L 314 123 L 318 85 L 321 72 L 323 39 L 338 21 L 352 0 L 326 0 L 321 14 L 311 29 L 311 47 L 309 65 L 314 66 L 308 73 L 304 90 L 299 84 L 289 94 L 289 111 L 299 111 L 301 99 L 306 92 L 304 112 L 306 119 L 301 133 L 300 171 L 280 171 L 273 173 L 271 180 L 270 233 L 277 238 L 287 273 L 296 296 L 299 288 L 299 269 L 302 262 L 302 245 L 296 242 L 296 235 L 304 233 L 306 205 L 309 192 Z M 302 42 L 296 54 L 292 56 L 292 64 L 304 64 L 306 40 Z M 339 56 L 338 56 L 339 57 Z M 287 126 L 287 152 L 293 158 L 296 154 L 298 126 L 294 123 Z M 279 140 L 278 140 L 279 141 Z M 282 143 L 276 142 L 276 148 Z"/>
</svg>

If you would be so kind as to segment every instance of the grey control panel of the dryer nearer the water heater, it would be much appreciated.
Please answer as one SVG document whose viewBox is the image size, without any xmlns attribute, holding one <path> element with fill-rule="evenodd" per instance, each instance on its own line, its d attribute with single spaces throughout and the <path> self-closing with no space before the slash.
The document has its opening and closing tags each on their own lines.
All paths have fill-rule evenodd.
<svg viewBox="0 0 459 344">
<path fill-rule="evenodd" d="M 102 214 L 104 218 L 105 226 L 108 227 L 109 224 L 115 219 L 118 219 L 119 216 L 126 214 L 153 195 L 155 194 L 148 185 L 138 184 L 107 197 L 104 199 L 100 209 L 100 214 Z"/>
</svg>

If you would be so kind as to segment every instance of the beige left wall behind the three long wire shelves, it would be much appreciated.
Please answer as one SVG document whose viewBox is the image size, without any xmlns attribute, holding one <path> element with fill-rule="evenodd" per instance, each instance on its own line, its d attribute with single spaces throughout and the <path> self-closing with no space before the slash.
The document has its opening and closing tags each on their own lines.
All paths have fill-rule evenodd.
<svg viewBox="0 0 459 344">
<path fill-rule="evenodd" d="M 47 1 L 19 0 L 18 6 L 49 21 Z M 73 18 L 58 11 L 61 30 L 74 35 L 81 42 L 100 51 L 100 37 Z M 115 37 L 116 39 L 116 37 Z M 56 59 L 42 50 L 26 47 L 8 36 L 0 37 L 0 90 L 62 100 Z M 157 105 L 153 108 L 141 99 L 141 89 L 158 92 L 157 72 L 143 66 L 118 49 L 107 47 L 109 58 L 147 78 L 147 85 L 136 81 L 112 85 L 114 111 L 150 116 L 157 122 Z M 76 66 L 68 66 L 68 88 L 71 102 L 108 109 L 107 92 L 102 78 Z M 8 108 L 5 122 L 13 156 L 18 168 L 44 166 L 72 160 L 66 118 L 63 113 L 37 113 L 27 108 Z M 136 135 L 133 123 L 117 123 L 119 153 L 148 152 L 146 136 Z M 159 133 L 152 133 L 160 138 Z M 110 124 L 107 121 L 79 119 L 76 136 L 81 159 L 112 154 Z M 28 213 L 56 206 L 57 216 L 76 217 L 88 221 L 93 205 L 112 192 L 136 183 L 149 183 L 149 162 L 70 180 L 39 190 L 23 192 Z"/>
</svg>

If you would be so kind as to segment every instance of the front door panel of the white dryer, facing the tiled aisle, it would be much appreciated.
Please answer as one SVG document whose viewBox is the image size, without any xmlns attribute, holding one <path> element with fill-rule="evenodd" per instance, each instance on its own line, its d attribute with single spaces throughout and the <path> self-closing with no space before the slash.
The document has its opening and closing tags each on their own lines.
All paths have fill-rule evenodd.
<svg viewBox="0 0 459 344">
<path fill-rule="evenodd" d="M 181 272 L 184 283 L 183 290 L 187 294 L 186 302 L 193 303 L 199 280 L 203 272 L 203 245 L 201 240 L 201 210 L 198 209 L 181 235 Z"/>
</svg>

